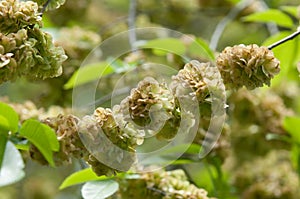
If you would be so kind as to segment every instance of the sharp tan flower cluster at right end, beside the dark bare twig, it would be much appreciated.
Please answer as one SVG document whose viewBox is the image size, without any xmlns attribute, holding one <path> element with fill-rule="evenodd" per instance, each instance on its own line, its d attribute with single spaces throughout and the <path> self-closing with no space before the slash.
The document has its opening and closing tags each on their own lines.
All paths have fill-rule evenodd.
<svg viewBox="0 0 300 199">
<path fill-rule="evenodd" d="M 280 71 L 280 62 L 273 52 L 256 44 L 226 47 L 216 62 L 227 89 L 269 86 L 270 80 Z"/>
</svg>

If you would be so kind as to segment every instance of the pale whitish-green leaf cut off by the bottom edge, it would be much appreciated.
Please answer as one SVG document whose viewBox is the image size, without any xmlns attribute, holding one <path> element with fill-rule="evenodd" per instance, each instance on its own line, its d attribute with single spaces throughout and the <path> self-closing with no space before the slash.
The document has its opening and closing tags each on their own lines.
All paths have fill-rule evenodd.
<svg viewBox="0 0 300 199">
<path fill-rule="evenodd" d="M 119 189 L 119 184 L 114 180 L 87 182 L 81 189 L 84 199 L 104 199 L 113 195 Z"/>
</svg>

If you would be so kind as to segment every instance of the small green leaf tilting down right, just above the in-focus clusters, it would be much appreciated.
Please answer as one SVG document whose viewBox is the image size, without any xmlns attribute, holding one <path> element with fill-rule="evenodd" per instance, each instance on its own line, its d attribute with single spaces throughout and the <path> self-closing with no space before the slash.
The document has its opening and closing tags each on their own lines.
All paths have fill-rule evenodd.
<svg viewBox="0 0 300 199">
<path fill-rule="evenodd" d="M 191 56 L 204 57 L 211 61 L 215 60 L 214 52 L 209 48 L 209 45 L 201 38 L 196 38 L 195 41 L 188 46 L 187 50 L 191 54 Z"/>
</svg>

